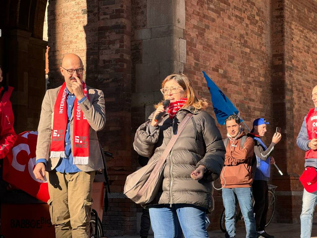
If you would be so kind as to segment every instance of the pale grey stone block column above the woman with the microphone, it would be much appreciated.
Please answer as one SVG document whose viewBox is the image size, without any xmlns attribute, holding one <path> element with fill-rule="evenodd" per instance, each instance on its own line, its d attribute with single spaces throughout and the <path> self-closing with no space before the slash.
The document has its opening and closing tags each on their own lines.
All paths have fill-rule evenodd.
<svg viewBox="0 0 317 238">
<path fill-rule="evenodd" d="M 142 63 L 136 64 L 132 107 L 145 107 L 163 99 L 159 89 L 166 76 L 184 70 L 186 63 L 185 1 L 148 0 L 147 28 L 135 30 L 133 40 L 142 40 Z"/>
</svg>

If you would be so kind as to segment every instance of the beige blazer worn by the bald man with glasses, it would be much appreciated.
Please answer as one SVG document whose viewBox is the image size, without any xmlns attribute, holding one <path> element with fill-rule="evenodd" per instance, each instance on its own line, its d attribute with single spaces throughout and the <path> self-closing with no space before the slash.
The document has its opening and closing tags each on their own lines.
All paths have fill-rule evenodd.
<svg viewBox="0 0 317 238">
<path fill-rule="evenodd" d="M 38 136 L 36 145 L 36 160 L 46 159 L 46 171 L 55 169 L 61 158 L 49 158 L 51 137 L 53 128 L 54 105 L 57 94 L 61 86 L 55 89 L 46 91 L 43 103 L 40 122 L 38 126 Z M 105 99 L 103 92 L 98 89 L 87 86 L 88 99 L 85 99 L 80 105 L 87 121 L 89 123 L 89 158 L 87 165 L 77 165 L 82 171 L 93 171 L 104 169 L 102 162 L 102 155 L 99 147 L 97 131 L 105 127 Z M 74 110 L 73 110 L 74 112 Z M 73 148 L 73 113 L 70 118 L 70 138 L 71 146 Z"/>
</svg>

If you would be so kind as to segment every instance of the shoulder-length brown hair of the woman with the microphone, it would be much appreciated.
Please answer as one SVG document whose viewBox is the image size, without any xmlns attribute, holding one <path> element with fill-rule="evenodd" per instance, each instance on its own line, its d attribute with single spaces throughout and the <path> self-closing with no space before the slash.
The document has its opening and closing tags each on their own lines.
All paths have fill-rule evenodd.
<svg viewBox="0 0 317 238">
<path fill-rule="evenodd" d="M 164 88 L 167 81 L 172 79 L 174 79 L 185 90 L 185 95 L 187 93 L 187 102 L 183 108 L 193 106 L 197 110 L 204 110 L 208 107 L 208 102 L 205 98 L 197 98 L 195 96 L 191 80 L 184 74 L 171 74 L 167 76 L 162 82 L 162 88 Z M 162 105 L 162 103 L 163 102 L 159 102 L 159 104 L 155 105 L 155 108 Z"/>
</svg>

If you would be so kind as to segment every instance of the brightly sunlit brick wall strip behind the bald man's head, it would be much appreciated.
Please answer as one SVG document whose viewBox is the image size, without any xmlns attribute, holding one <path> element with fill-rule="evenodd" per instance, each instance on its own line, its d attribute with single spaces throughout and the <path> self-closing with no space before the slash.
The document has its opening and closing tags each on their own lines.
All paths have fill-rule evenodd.
<svg viewBox="0 0 317 238">
<path fill-rule="evenodd" d="M 81 57 L 85 66 L 86 78 L 86 41 L 84 26 L 87 24 L 87 15 L 81 10 L 86 9 L 86 1 L 49 1 L 48 5 L 48 46 L 49 46 L 49 85 L 56 88 L 64 82 L 59 67 L 62 58 L 68 53 Z M 89 80 L 87 80 L 89 85 Z"/>
</svg>

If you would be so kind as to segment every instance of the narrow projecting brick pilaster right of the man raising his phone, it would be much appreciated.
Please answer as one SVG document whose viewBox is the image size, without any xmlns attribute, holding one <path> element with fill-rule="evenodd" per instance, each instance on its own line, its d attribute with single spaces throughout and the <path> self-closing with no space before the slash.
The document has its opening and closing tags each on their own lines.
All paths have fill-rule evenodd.
<svg viewBox="0 0 317 238">
<path fill-rule="evenodd" d="M 289 160 L 294 153 L 295 135 L 292 126 L 293 101 L 289 100 L 292 95 L 291 66 L 289 38 L 289 1 L 272 2 L 272 82 L 273 82 L 273 117 L 282 126 L 280 146 L 276 148 L 275 157 L 280 158 L 279 167 L 284 176 L 275 176 L 274 184 L 278 186 L 278 215 L 279 222 L 292 222 L 296 215 L 292 214 L 293 197 L 290 195 L 291 183 L 296 182 L 298 175 L 290 171 Z M 287 40 L 286 40 L 287 39 Z M 294 145 L 289 148 L 289 145 Z M 275 173 L 276 175 L 276 173 Z M 298 180 L 297 180 L 298 181 Z M 297 216 L 298 218 L 298 216 Z M 295 221 L 295 220 L 294 220 Z M 298 221 L 298 219 L 297 219 Z"/>
</svg>

